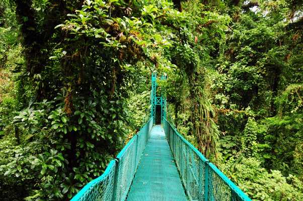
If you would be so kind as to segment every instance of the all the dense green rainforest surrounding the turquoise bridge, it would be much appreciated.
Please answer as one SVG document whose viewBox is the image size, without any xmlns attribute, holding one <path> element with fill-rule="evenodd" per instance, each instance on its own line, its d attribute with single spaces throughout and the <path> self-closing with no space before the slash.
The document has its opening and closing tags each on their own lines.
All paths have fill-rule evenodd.
<svg viewBox="0 0 303 201">
<path fill-rule="evenodd" d="M 68 200 L 169 118 L 255 200 L 303 200 L 302 3 L 0 2 L 0 196 Z"/>
</svg>

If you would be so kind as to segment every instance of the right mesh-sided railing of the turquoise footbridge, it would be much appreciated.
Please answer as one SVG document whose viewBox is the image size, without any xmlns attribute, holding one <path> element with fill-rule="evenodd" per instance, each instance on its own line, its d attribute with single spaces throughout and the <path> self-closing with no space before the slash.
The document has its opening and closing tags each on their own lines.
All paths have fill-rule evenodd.
<svg viewBox="0 0 303 201">
<path fill-rule="evenodd" d="M 251 200 L 167 120 L 164 130 L 190 200 Z"/>
</svg>

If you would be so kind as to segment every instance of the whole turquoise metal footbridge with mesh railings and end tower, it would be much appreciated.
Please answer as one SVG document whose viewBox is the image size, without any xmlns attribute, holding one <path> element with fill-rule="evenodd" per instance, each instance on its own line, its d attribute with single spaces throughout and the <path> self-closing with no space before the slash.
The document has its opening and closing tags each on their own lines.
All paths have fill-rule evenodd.
<svg viewBox="0 0 303 201">
<path fill-rule="evenodd" d="M 167 120 L 165 96 L 158 97 L 156 89 L 154 73 L 150 119 L 71 201 L 251 200 L 178 133 Z M 157 119 L 161 125 L 155 125 Z"/>
</svg>

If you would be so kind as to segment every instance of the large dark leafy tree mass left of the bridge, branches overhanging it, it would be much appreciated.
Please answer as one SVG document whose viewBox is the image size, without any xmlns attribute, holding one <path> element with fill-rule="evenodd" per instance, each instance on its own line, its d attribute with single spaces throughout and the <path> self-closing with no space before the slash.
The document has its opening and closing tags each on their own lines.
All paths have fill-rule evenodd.
<svg viewBox="0 0 303 201">
<path fill-rule="evenodd" d="M 128 137 L 126 125 L 135 130 L 143 120 L 137 115 L 147 109 L 146 82 L 136 89 L 141 96 L 130 90 L 142 86 L 146 66 L 175 67 L 165 55 L 174 35 L 161 23 L 181 14 L 166 1 L 39 3 L 16 2 L 26 57 L 16 88 L 28 105 L 14 119 L 18 146 L 45 145 L 20 159 L 34 187 L 20 185 L 27 200 L 67 199 L 102 174 Z M 142 97 L 137 105 L 135 97 Z M 8 186 L 18 181 L 15 166 L 3 166 Z"/>
</svg>

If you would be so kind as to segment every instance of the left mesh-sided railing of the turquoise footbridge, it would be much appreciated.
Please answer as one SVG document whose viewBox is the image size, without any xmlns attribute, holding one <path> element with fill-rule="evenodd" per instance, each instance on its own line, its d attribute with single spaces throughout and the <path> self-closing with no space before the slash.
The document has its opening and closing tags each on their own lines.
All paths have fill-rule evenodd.
<svg viewBox="0 0 303 201">
<path fill-rule="evenodd" d="M 152 127 L 153 118 L 150 118 L 110 161 L 104 173 L 85 185 L 71 201 L 125 200 Z"/>
</svg>

